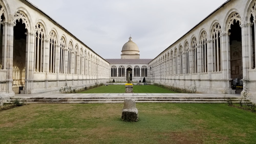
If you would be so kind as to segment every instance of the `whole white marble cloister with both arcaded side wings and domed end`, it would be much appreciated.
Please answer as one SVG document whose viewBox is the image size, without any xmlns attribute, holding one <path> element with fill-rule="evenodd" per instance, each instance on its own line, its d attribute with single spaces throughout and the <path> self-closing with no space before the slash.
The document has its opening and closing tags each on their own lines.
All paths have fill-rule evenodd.
<svg viewBox="0 0 256 144">
<path fill-rule="evenodd" d="M 104 59 L 27 0 L 0 0 L 0 96 L 57 93 L 95 82 L 132 81 L 242 93 L 256 102 L 256 1 L 228 0 L 154 59 L 129 38 L 121 59 Z"/>
</svg>

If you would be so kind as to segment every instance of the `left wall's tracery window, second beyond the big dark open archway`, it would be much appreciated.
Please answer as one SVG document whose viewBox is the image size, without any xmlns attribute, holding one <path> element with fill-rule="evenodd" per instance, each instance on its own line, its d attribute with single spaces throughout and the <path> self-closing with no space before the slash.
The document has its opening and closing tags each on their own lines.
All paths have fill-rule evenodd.
<svg viewBox="0 0 256 144">
<path fill-rule="evenodd" d="M 56 43 L 57 38 L 54 31 L 50 32 L 50 46 L 49 46 L 49 73 L 56 73 Z"/>
</svg>

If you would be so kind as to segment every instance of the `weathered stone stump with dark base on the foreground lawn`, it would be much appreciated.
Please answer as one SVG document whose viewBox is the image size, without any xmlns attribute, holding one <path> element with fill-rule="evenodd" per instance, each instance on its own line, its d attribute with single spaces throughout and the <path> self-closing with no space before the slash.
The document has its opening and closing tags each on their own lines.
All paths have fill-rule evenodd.
<svg viewBox="0 0 256 144">
<path fill-rule="evenodd" d="M 138 109 L 136 109 L 135 100 L 126 98 L 124 99 L 124 108 L 122 110 L 122 121 L 137 122 Z"/>
</svg>

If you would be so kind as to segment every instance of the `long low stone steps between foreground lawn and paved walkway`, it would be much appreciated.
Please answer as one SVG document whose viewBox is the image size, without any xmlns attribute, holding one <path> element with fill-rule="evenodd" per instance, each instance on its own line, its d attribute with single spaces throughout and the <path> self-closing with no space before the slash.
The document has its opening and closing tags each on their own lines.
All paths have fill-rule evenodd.
<svg viewBox="0 0 256 144">
<path fill-rule="evenodd" d="M 19 99 L 25 103 L 123 103 L 125 98 L 131 98 L 136 103 L 225 103 L 224 97 L 220 96 L 145 96 L 145 95 L 132 95 L 132 96 L 90 96 L 90 95 L 57 95 L 57 96 L 37 96 L 37 97 L 12 97 L 7 102 L 13 99 Z M 233 103 L 239 103 L 242 97 L 240 96 L 225 96 L 225 99 L 230 99 Z M 244 100 L 242 100 L 244 103 Z"/>
</svg>

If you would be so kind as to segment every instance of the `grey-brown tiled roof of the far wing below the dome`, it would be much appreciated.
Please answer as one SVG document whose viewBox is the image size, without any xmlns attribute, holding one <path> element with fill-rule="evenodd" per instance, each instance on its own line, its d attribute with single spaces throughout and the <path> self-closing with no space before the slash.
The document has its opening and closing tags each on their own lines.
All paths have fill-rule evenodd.
<svg viewBox="0 0 256 144">
<path fill-rule="evenodd" d="M 148 64 L 153 59 L 105 59 L 110 64 Z"/>
</svg>

